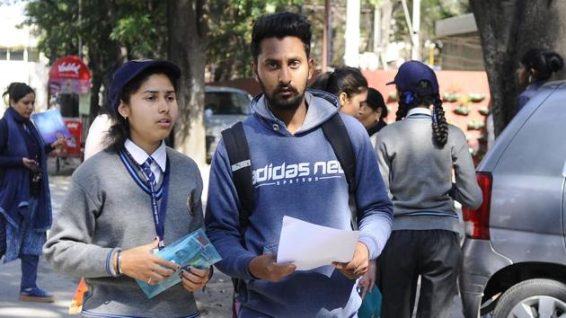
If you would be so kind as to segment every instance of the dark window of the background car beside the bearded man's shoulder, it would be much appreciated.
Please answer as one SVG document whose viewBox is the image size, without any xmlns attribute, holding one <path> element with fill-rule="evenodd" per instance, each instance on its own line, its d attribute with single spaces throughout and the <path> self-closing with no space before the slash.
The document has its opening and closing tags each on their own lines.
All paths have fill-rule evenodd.
<svg viewBox="0 0 566 318">
<path fill-rule="evenodd" d="M 244 93 L 207 92 L 205 110 L 215 115 L 247 115 L 250 99 Z"/>
</svg>

